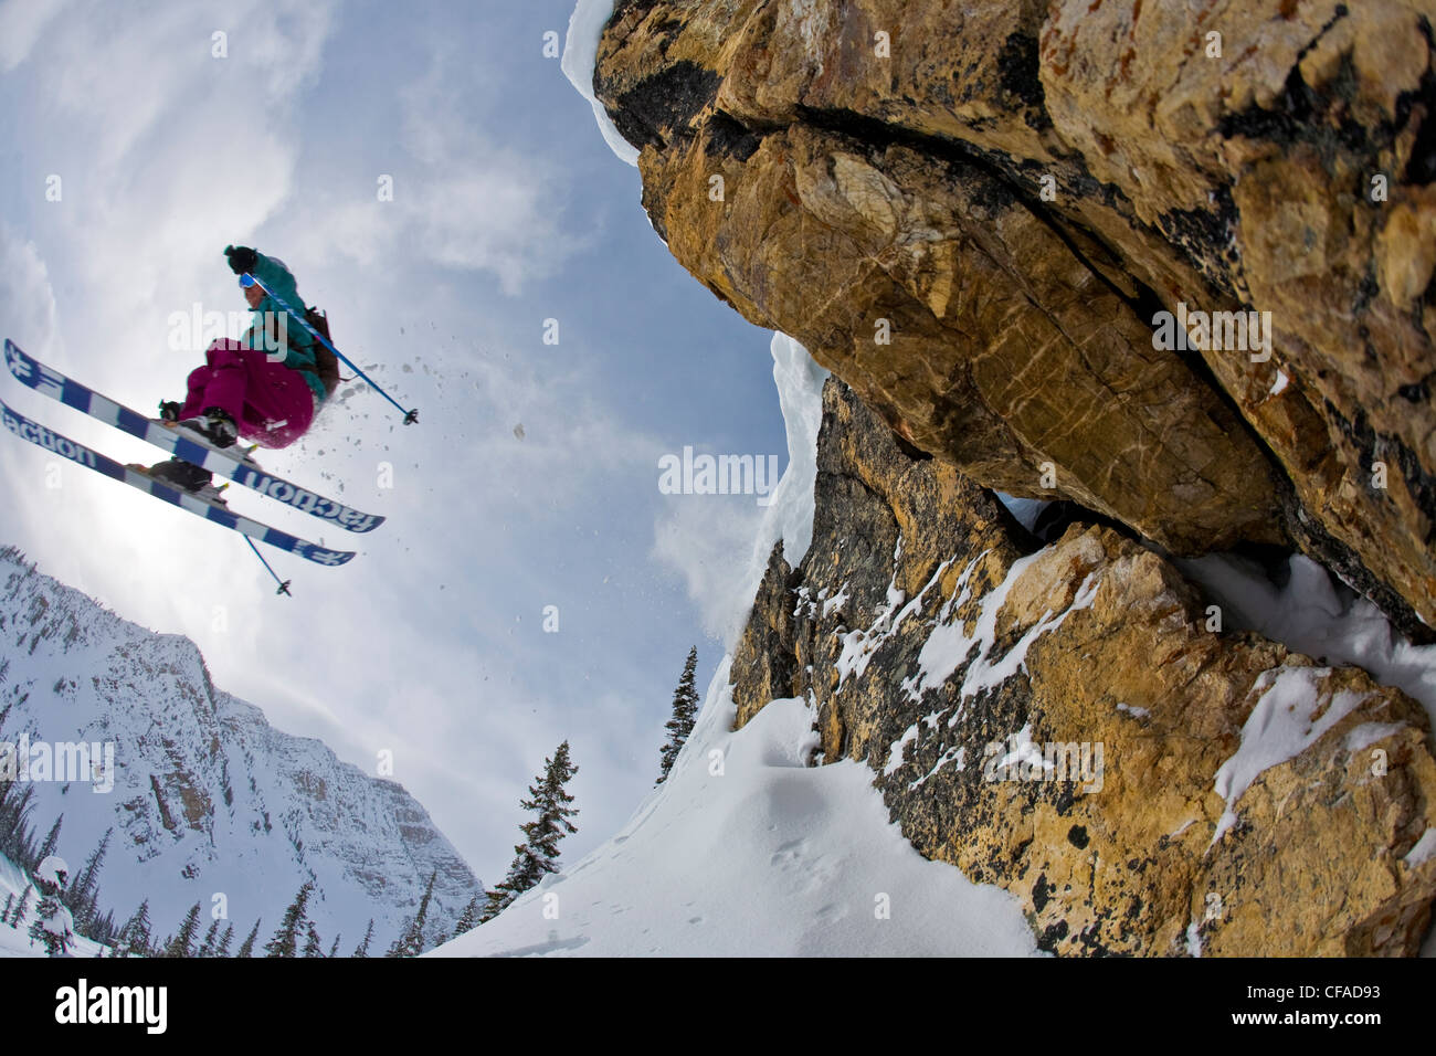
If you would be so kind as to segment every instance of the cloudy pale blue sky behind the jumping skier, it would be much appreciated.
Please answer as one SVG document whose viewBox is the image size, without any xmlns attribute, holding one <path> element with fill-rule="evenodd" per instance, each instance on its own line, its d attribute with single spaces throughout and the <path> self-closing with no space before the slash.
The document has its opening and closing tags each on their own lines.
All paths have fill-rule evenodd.
<svg viewBox="0 0 1436 1056">
<path fill-rule="evenodd" d="M 0 543 L 188 635 L 217 684 L 279 728 L 370 773 L 392 751 L 395 779 L 490 884 L 559 741 L 580 767 L 576 861 L 651 787 L 689 645 L 699 688 L 721 657 L 761 509 L 661 494 L 659 458 L 692 445 L 785 463 L 768 335 L 668 254 L 636 170 L 544 55 L 570 11 L 0 3 L 4 336 L 154 412 L 202 359 L 202 342 L 171 348 L 175 315 L 241 312 L 221 250 L 250 244 L 281 257 L 339 348 L 421 409 L 404 428 L 350 392 L 302 444 L 261 453 L 388 516 L 373 534 L 231 490 L 241 513 L 358 543 L 342 569 L 267 550 L 293 599 L 240 536 L 79 467 L 47 487 L 52 457 L 10 437 Z M 80 443 L 162 457 L 0 384 Z"/>
</svg>

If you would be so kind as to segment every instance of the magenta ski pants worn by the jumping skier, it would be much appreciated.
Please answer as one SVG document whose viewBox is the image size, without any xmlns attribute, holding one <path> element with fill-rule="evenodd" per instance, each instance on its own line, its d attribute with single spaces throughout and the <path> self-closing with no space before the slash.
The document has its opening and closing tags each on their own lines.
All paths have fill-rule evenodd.
<svg viewBox="0 0 1436 1056">
<path fill-rule="evenodd" d="M 221 338 L 204 358 L 205 365 L 190 372 L 181 418 L 218 407 L 238 424 L 243 440 L 260 447 L 289 447 L 314 421 L 314 394 L 304 376 L 270 362 L 263 349 Z"/>
</svg>

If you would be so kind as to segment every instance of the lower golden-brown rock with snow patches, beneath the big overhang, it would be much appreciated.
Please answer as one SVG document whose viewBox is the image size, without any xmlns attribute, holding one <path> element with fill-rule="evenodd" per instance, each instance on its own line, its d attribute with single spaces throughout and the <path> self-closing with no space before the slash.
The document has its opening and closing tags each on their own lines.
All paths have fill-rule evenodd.
<svg viewBox="0 0 1436 1056">
<path fill-rule="evenodd" d="M 824 391 L 813 543 L 774 550 L 738 723 L 810 695 L 929 858 L 1064 954 L 1410 954 L 1436 897 L 1430 720 L 1254 634 L 1110 527 L 1041 546 Z"/>
</svg>

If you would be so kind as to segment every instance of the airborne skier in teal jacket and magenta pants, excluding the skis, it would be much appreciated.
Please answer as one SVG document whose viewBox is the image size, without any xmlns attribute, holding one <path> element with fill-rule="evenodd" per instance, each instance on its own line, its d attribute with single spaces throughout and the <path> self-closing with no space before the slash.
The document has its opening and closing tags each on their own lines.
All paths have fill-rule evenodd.
<svg viewBox="0 0 1436 1056">
<path fill-rule="evenodd" d="M 241 438 L 260 447 L 289 447 L 313 424 L 330 386 L 320 376 L 317 343 L 309 330 L 266 290 L 300 312 L 304 302 L 281 260 L 248 246 L 225 246 L 224 256 L 240 276 L 254 322 L 238 341 L 221 338 L 205 349 L 205 365 L 190 372 L 184 402 L 162 401 L 161 418 L 220 448 Z M 258 283 L 246 286 L 247 276 Z M 180 458 L 157 463 L 146 473 L 192 493 L 208 488 L 213 478 L 208 470 Z"/>
</svg>

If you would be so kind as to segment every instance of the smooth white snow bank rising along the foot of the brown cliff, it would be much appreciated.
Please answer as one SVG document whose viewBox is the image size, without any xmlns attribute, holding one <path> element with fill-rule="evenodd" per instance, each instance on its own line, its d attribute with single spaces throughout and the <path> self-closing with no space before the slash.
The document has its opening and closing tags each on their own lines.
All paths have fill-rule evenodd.
<svg viewBox="0 0 1436 1056">
<path fill-rule="evenodd" d="M 783 335 L 773 355 L 790 461 L 752 568 L 734 570 L 751 583 L 773 542 L 796 560 L 813 534 L 827 374 Z M 807 701 L 774 701 L 734 731 L 729 667 L 718 665 L 668 780 L 617 835 L 431 955 L 1035 953 L 1014 898 L 913 851 L 867 767 L 808 766 Z"/>
</svg>

